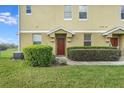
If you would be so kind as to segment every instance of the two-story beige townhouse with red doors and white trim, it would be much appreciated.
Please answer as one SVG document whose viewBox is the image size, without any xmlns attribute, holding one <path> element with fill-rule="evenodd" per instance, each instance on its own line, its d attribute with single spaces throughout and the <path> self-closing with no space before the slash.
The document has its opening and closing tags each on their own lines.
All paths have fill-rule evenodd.
<svg viewBox="0 0 124 93">
<path fill-rule="evenodd" d="M 124 6 L 23 5 L 20 48 L 48 44 L 55 55 L 70 46 L 114 46 L 124 56 Z"/>
</svg>

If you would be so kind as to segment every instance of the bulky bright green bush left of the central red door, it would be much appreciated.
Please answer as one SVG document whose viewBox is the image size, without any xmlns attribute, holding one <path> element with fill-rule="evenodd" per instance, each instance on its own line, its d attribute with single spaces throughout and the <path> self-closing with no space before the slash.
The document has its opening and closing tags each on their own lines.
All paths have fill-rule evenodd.
<svg viewBox="0 0 124 93">
<path fill-rule="evenodd" d="M 32 45 L 23 49 L 24 57 L 31 66 L 49 66 L 52 58 L 52 47 Z"/>
</svg>

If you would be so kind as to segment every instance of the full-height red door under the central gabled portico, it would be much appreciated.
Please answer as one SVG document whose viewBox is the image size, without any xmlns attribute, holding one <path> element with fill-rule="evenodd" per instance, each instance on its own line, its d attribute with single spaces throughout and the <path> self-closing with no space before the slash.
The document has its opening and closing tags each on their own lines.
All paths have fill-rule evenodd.
<svg viewBox="0 0 124 93">
<path fill-rule="evenodd" d="M 57 55 L 65 55 L 65 35 L 56 35 Z"/>
</svg>

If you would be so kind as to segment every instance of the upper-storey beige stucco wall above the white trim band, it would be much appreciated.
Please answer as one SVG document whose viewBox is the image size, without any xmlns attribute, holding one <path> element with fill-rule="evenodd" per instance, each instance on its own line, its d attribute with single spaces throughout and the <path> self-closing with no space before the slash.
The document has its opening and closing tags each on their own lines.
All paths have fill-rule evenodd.
<svg viewBox="0 0 124 93">
<path fill-rule="evenodd" d="M 79 20 L 79 6 L 72 6 L 72 20 L 64 20 L 64 5 L 32 5 L 31 15 L 20 6 L 20 30 L 50 30 L 63 26 L 72 30 L 106 30 L 121 26 L 119 5 L 88 5 L 88 20 Z"/>
</svg>

